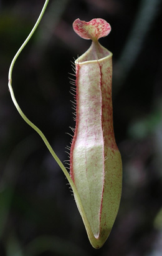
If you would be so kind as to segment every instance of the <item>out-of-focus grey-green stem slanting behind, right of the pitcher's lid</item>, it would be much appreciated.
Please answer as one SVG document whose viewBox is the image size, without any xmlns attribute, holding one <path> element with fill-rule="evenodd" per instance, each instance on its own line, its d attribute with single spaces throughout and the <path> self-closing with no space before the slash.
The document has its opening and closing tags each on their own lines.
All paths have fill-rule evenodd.
<svg viewBox="0 0 162 256">
<path fill-rule="evenodd" d="M 150 31 L 150 27 L 158 14 L 160 3 L 161 0 L 141 0 L 135 23 L 131 28 L 122 54 L 115 65 L 114 78 L 117 87 L 122 86 L 125 82 L 138 54 L 140 54 L 146 34 Z"/>
</svg>

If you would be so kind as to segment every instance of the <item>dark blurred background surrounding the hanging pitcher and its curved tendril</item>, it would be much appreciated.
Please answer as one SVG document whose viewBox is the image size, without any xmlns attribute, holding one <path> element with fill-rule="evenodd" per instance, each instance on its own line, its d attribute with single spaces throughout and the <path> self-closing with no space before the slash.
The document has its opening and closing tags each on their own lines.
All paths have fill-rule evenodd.
<svg viewBox="0 0 162 256">
<path fill-rule="evenodd" d="M 12 86 L 24 113 L 67 160 L 70 61 L 90 41 L 76 18 L 112 26 L 100 40 L 113 53 L 113 118 L 123 159 L 123 193 L 112 233 L 92 248 L 67 180 L 37 133 L 22 120 L 7 89 L 7 72 L 44 1 L 0 1 L 0 255 L 162 255 L 161 0 L 50 0 L 17 59 Z"/>
</svg>

